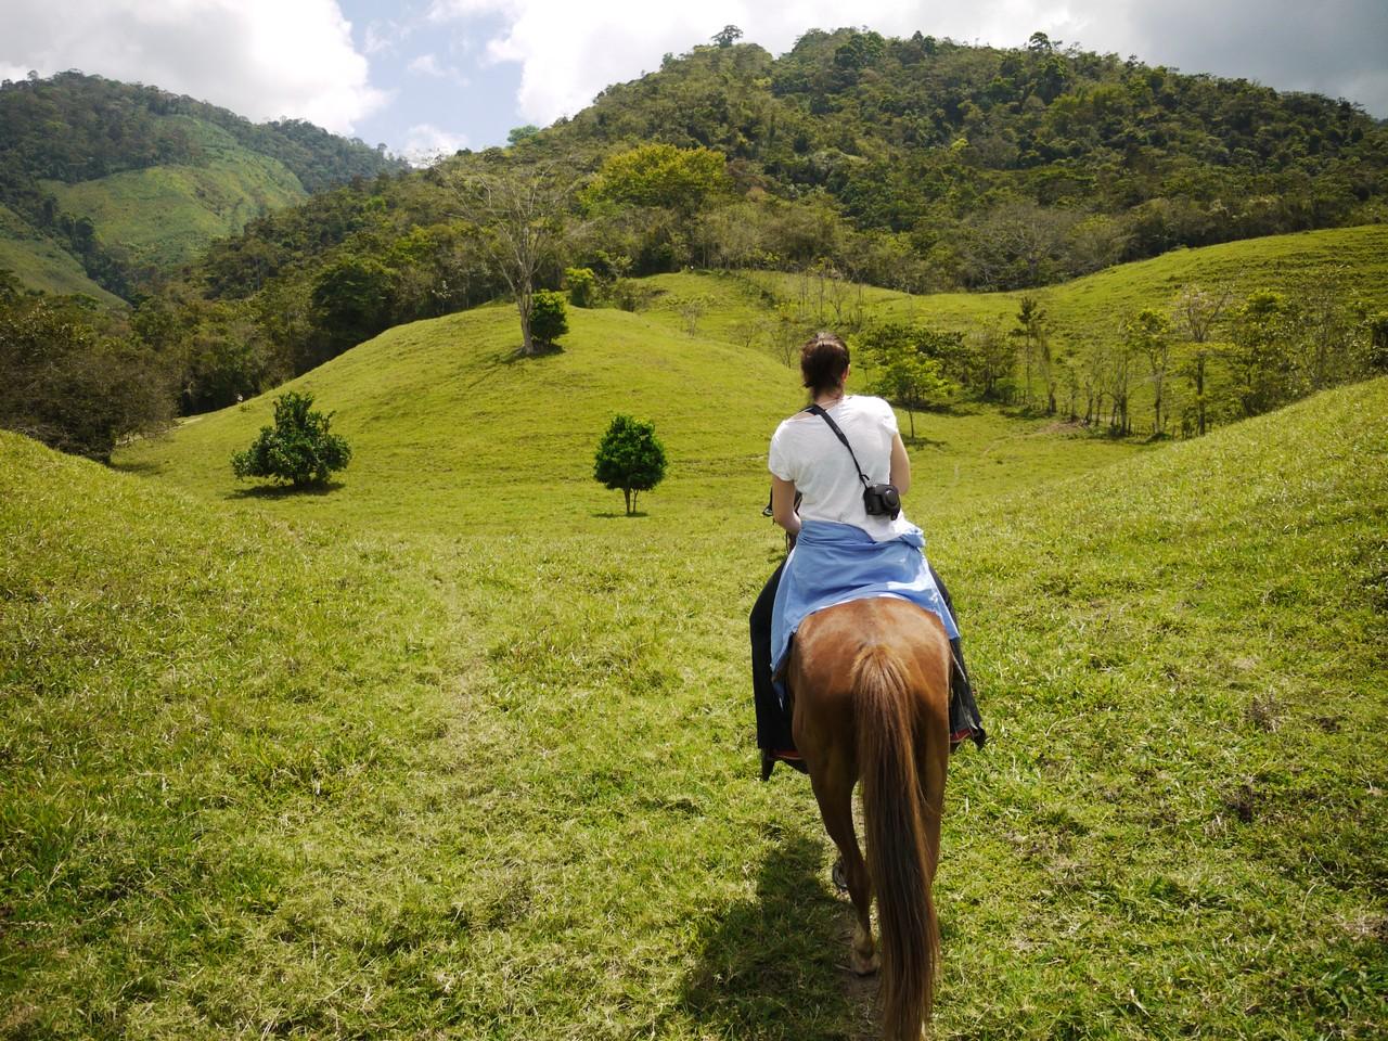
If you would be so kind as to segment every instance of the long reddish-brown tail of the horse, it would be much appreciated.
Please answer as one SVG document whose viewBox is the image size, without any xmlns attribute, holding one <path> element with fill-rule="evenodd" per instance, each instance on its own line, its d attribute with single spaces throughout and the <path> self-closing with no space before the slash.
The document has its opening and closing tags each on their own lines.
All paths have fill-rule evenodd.
<svg viewBox="0 0 1388 1041">
<path fill-rule="evenodd" d="M 883 1027 L 915 1041 L 934 1001 L 940 930 L 916 763 L 916 712 L 902 659 L 863 648 L 854 662 L 858 768 L 863 784 L 867 870 L 881 930 Z"/>
</svg>

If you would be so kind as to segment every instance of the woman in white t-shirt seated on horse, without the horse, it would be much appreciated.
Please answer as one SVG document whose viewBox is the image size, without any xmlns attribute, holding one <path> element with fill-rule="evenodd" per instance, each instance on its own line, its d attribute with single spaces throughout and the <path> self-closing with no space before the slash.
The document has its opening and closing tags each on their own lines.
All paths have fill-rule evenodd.
<svg viewBox="0 0 1388 1041">
<path fill-rule="evenodd" d="M 823 529 L 824 523 L 837 527 L 852 526 L 858 529 L 856 537 L 872 544 L 866 555 L 859 554 L 861 559 L 870 561 L 881 551 L 887 555 L 906 548 L 919 551 L 923 547 L 920 530 L 906 520 L 905 514 L 869 514 L 863 497 L 865 486 L 873 483 L 869 476 L 879 486 L 891 484 L 898 496 L 904 496 L 911 487 L 911 459 L 897 430 L 897 416 L 891 405 L 877 397 L 844 393 L 844 383 L 851 371 L 848 347 L 833 333 L 819 333 L 801 347 L 799 368 L 812 405 L 786 419 L 772 437 L 768 462 L 772 471 L 772 515 L 776 523 L 784 527 L 791 539 L 801 534 L 804 522 L 815 522 L 822 532 L 833 530 Z M 833 422 L 824 422 L 820 412 Z M 840 436 L 847 444 L 840 443 Z M 859 464 L 863 469 L 859 469 Z M 838 532 L 838 534 L 854 533 Z M 783 625 L 773 640 L 775 604 L 784 569 L 786 562 L 772 573 L 750 618 L 752 700 L 756 708 L 756 744 L 762 754 L 762 780 L 770 777 L 777 761 L 801 772 L 805 769 L 791 736 L 791 713 L 784 688 L 773 682 L 773 669 L 781 663 L 788 650 L 790 634 L 795 629 L 794 623 L 788 627 Z M 969 686 L 969 673 L 963 665 L 963 650 L 955 629 L 949 590 L 929 564 L 924 569 L 923 589 L 906 598 L 915 598 L 930 609 L 938 607 L 941 619 L 948 619 L 945 627 L 951 637 L 954 659 L 949 680 L 951 743 L 956 745 L 965 738 L 973 738 L 981 747 L 985 734 Z M 865 584 L 854 589 L 854 582 Z M 872 582 L 872 575 L 854 573 L 854 568 L 845 565 L 844 573 L 836 576 L 819 595 L 829 597 L 833 602 L 843 602 L 862 595 L 901 594 L 899 590 L 874 590 Z M 787 597 L 781 594 L 781 601 L 786 600 Z M 808 613 L 804 611 L 806 607 L 804 604 L 790 607 L 791 616 L 797 609 L 801 612 L 794 622 Z"/>
</svg>

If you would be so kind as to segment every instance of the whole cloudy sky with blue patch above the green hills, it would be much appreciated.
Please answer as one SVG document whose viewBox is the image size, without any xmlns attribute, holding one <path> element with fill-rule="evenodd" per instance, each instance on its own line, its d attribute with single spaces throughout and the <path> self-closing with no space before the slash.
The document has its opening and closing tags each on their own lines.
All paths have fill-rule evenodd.
<svg viewBox="0 0 1388 1041">
<path fill-rule="evenodd" d="M 849 19 L 997 46 L 1040 29 L 1388 117 L 1388 0 L 0 0 L 0 78 L 81 68 L 426 161 L 573 114 L 726 24 L 780 54 Z"/>
</svg>

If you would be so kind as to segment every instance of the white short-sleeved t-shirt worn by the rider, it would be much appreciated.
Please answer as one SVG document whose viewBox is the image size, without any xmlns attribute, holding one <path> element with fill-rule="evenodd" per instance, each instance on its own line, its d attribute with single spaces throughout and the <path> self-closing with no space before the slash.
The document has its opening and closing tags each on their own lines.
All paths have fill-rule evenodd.
<svg viewBox="0 0 1388 1041">
<path fill-rule="evenodd" d="M 867 480 L 886 484 L 891 479 L 891 441 L 897 434 L 891 405 L 880 397 L 849 394 L 826 411 L 854 447 Z M 905 511 L 895 520 L 867 515 L 852 457 L 829 423 L 812 412 L 797 412 L 776 428 L 766 462 L 772 473 L 794 483 L 804 497 L 801 519 L 856 525 L 879 543 L 912 526 Z"/>
</svg>

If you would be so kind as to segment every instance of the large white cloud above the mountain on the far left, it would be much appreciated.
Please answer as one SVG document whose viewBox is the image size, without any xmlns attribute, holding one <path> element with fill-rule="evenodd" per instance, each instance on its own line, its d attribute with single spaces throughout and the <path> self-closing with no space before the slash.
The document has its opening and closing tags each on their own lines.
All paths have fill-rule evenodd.
<svg viewBox="0 0 1388 1041">
<path fill-rule="evenodd" d="M 4 0 L 0 67 L 81 68 L 350 133 L 389 96 L 336 0 Z"/>
</svg>

